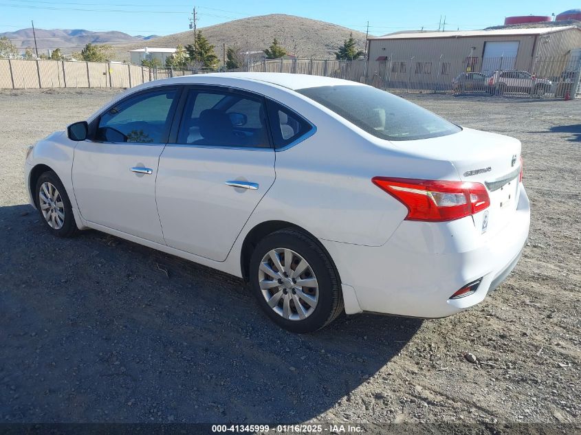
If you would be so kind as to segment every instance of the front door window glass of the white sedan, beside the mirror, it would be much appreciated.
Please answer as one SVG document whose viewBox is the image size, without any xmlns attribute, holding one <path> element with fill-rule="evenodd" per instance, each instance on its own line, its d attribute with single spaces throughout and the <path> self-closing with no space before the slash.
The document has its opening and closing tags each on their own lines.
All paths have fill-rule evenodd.
<svg viewBox="0 0 581 435">
<path fill-rule="evenodd" d="M 100 116 L 94 140 L 164 143 L 177 100 L 176 94 L 176 89 L 162 89 L 122 100 Z"/>
</svg>

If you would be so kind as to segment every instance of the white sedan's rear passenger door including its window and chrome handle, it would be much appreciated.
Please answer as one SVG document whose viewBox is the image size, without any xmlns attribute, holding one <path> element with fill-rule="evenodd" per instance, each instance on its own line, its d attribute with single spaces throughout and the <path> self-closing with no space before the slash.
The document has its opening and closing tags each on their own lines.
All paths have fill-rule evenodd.
<svg viewBox="0 0 581 435">
<path fill-rule="evenodd" d="M 164 239 L 223 261 L 274 183 L 264 98 L 226 87 L 190 87 L 180 111 L 157 172 Z"/>
</svg>

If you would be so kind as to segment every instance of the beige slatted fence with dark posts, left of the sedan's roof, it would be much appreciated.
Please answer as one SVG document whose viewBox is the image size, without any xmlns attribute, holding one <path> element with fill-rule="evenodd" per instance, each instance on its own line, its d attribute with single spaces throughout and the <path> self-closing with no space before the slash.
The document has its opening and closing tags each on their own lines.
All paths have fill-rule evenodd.
<svg viewBox="0 0 581 435">
<path fill-rule="evenodd" d="M 0 59 L 0 89 L 127 88 L 151 80 L 151 68 L 127 63 Z"/>
</svg>

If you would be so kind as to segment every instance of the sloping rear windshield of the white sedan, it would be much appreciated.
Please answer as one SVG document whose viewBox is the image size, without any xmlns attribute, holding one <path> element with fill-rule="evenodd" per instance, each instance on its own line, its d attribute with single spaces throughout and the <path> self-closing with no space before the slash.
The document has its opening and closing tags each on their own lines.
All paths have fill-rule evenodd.
<svg viewBox="0 0 581 435">
<path fill-rule="evenodd" d="M 323 86 L 297 92 L 380 139 L 428 139 L 461 131 L 435 113 L 370 86 Z"/>
</svg>

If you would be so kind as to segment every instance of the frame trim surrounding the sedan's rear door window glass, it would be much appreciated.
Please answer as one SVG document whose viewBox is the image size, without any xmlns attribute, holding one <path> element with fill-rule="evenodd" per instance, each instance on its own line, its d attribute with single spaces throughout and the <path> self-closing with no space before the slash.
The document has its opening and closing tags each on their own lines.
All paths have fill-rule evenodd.
<svg viewBox="0 0 581 435">
<path fill-rule="evenodd" d="M 269 151 L 274 149 L 274 138 L 272 137 L 272 130 L 270 128 L 270 117 L 268 114 L 268 106 L 265 96 L 260 93 L 255 93 L 252 91 L 247 91 L 246 89 L 239 89 L 237 87 L 231 86 L 221 86 L 221 85 L 205 85 L 203 83 L 195 83 L 192 85 L 182 86 L 182 95 L 179 98 L 179 102 L 176 106 L 176 111 L 173 117 L 173 123 L 171 126 L 170 134 L 168 135 L 168 142 L 166 146 L 177 146 L 177 147 L 189 147 L 189 148 L 221 148 L 221 149 L 232 149 L 232 150 L 255 150 L 255 151 Z M 177 136 L 179 134 L 179 126 L 182 124 L 182 118 L 184 118 L 184 109 L 186 109 L 186 102 L 188 100 L 188 94 L 191 90 L 196 91 L 208 91 L 208 92 L 232 92 L 238 95 L 248 96 L 256 100 L 260 100 L 261 104 L 265 108 L 266 115 L 266 130 L 267 139 L 269 146 L 221 146 L 221 145 L 197 145 L 197 144 L 178 144 Z"/>
</svg>

